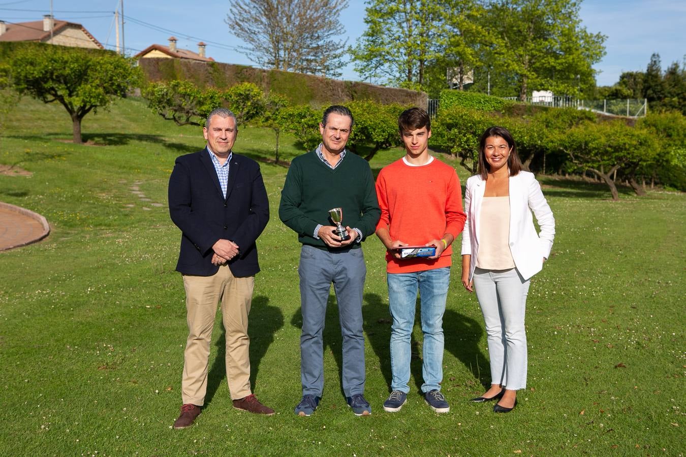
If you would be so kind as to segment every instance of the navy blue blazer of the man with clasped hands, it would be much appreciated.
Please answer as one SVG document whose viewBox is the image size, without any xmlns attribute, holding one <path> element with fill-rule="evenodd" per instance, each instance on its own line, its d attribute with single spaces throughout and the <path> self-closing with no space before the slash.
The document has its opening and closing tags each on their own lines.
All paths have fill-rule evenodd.
<svg viewBox="0 0 686 457">
<path fill-rule="evenodd" d="M 169 215 L 181 229 L 176 271 L 198 276 L 217 273 L 212 246 L 225 239 L 240 248 L 228 263 L 233 275 L 259 272 L 255 240 L 269 221 L 269 202 L 255 160 L 233 153 L 225 199 L 206 148 L 176 158 L 169 177 Z"/>
</svg>

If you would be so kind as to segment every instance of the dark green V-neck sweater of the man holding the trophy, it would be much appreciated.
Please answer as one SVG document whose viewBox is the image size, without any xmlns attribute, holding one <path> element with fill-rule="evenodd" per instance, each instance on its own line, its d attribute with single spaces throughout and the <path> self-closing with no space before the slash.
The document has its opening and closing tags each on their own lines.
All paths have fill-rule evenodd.
<svg viewBox="0 0 686 457">
<path fill-rule="evenodd" d="M 359 229 L 363 237 L 374 233 L 381 210 L 368 162 L 350 151 L 335 169 L 314 151 L 296 157 L 281 191 L 279 219 L 298 234 L 300 243 L 327 248 L 321 238 L 314 238 L 314 229 L 334 225 L 331 208 L 343 208 L 344 227 Z"/>
</svg>

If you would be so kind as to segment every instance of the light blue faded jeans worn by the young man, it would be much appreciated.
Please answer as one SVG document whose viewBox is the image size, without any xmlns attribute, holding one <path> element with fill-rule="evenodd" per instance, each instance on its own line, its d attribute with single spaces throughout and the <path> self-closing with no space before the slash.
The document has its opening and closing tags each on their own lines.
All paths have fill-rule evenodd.
<svg viewBox="0 0 686 457">
<path fill-rule="evenodd" d="M 410 341 L 417 290 L 424 334 L 422 392 L 440 391 L 443 380 L 443 313 L 450 284 L 450 267 L 414 273 L 388 273 L 388 301 L 393 325 L 390 334 L 391 390 L 410 392 Z"/>
</svg>

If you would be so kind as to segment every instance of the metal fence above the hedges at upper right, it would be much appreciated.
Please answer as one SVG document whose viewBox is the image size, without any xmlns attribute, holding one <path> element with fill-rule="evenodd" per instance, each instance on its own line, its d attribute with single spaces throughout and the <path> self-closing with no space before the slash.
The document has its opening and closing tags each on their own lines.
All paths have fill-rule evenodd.
<svg viewBox="0 0 686 457">
<path fill-rule="evenodd" d="M 506 100 L 519 101 L 519 97 L 503 97 Z M 526 97 L 526 103 L 552 108 L 577 108 L 591 110 L 611 116 L 643 117 L 648 114 L 648 100 L 646 99 L 603 99 L 580 100 L 573 97 Z M 429 99 L 429 116 L 438 114 L 438 100 Z"/>
</svg>

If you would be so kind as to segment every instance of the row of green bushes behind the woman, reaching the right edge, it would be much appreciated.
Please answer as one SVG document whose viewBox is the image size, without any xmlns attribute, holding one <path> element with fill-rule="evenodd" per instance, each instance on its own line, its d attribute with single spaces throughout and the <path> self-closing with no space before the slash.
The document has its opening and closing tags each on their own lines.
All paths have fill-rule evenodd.
<svg viewBox="0 0 686 457">
<path fill-rule="evenodd" d="M 479 137 L 492 125 L 510 130 L 526 170 L 590 171 L 611 188 L 616 171 L 632 186 L 648 177 L 686 190 L 686 117 L 681 113 L 650 114 L 632 126 L 574 108 L 508 116 L 457 105 L 439 110 L 431 146 L 451 153 L 475 173 Z"/>
</svg>

